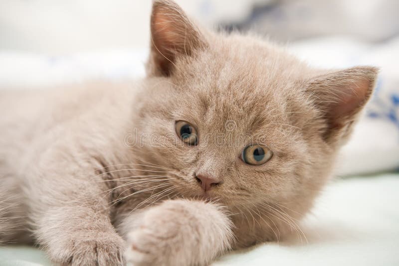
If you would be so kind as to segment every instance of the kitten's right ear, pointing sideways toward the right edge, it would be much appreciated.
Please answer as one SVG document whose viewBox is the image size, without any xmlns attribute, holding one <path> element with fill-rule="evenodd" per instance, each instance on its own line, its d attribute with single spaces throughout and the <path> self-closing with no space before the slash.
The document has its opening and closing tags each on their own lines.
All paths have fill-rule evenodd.
<svg viewBox="0 0 399 266">
<path fill-rule="evenodd" d="M 308 91 L 327 123 L 327 142 L 346 138 L 357 114 L 373 93 L 378 68 L 361 66 L 327 73 L 312 79 Z"/>
</svg>

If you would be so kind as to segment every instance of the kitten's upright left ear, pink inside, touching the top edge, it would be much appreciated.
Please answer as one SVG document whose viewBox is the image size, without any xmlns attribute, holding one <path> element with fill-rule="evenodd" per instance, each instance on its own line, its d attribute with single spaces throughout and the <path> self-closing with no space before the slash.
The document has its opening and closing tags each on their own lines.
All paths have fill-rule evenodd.
<svg viewBox="0 0 399 266">
<path fill-rule="evenodd" d="M 193 56 L 205 47 L 200 30 L 172 0 L 154 0 L 151 14 L 151 55 L 148 70 L 170 76 L 180 56 Z"/>
</svg>

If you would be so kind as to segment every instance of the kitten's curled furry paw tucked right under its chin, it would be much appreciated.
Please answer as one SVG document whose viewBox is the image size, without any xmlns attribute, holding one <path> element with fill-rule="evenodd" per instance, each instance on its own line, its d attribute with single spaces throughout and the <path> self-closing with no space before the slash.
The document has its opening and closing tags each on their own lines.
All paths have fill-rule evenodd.
<svg viewBox="0 0 399 266">
<path fill-rule="evenodd" d="M 122 224 L 127 232 L 125 257 L 134 266 L 207 265 L 230 249 L 232 224 L 220 205 L 167 200 Z"/>
</svg>

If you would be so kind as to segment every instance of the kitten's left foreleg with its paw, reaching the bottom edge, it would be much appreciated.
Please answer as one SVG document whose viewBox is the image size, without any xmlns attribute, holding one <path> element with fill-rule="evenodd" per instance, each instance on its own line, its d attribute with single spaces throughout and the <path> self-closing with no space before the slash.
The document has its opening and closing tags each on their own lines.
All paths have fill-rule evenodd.
<svg viewBox="0 0 399 266">
<path fill-rule="evenodd" d="M 125 265 L 125 242 L 110 222 L 105 189 L 79 167 L 73 174 L 59 169 L 29 179 L 34 180 L 28 204 L 38 243 L 56 265 Z"/>
</svg>

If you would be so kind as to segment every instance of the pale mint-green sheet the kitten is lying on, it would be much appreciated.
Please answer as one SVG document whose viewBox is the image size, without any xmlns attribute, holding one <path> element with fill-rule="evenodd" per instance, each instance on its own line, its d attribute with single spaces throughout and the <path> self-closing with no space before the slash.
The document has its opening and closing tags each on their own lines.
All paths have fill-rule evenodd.
<svg viewBox="0 0 399 266">
<path fill-rule="evenodd" d="M 399 174 L 332 182 L 301 228 L 280 243 L 262 244 L 221 257 L 212 266 L 399 265 Z M 0 266 L 49 266 L 39 250 L 0 248 Z"/>
</svg>

